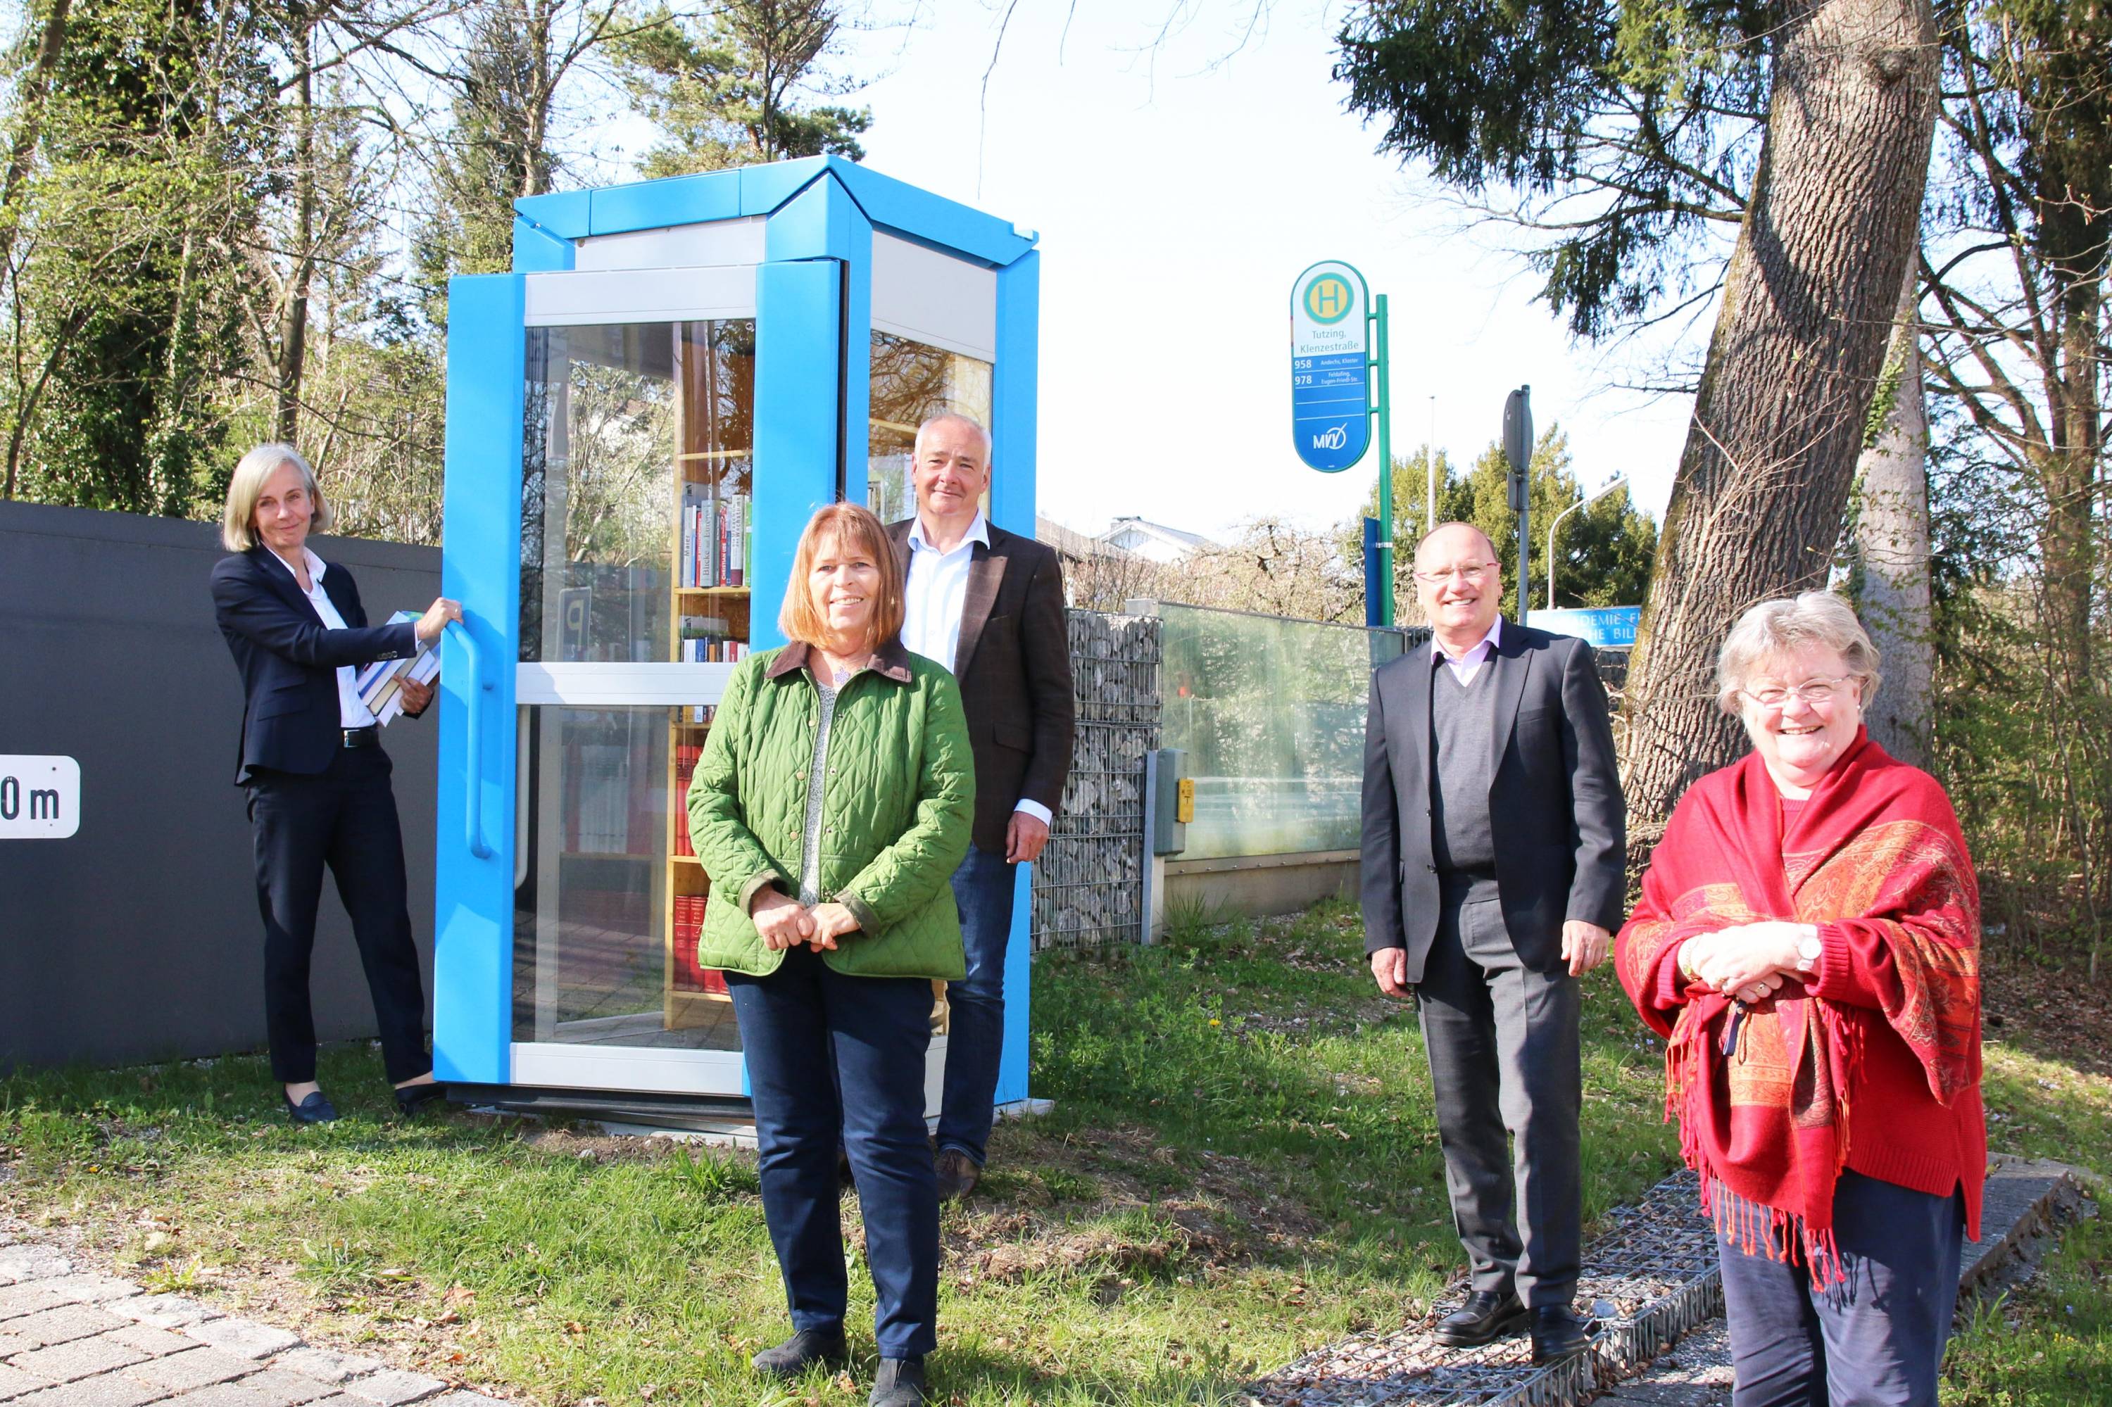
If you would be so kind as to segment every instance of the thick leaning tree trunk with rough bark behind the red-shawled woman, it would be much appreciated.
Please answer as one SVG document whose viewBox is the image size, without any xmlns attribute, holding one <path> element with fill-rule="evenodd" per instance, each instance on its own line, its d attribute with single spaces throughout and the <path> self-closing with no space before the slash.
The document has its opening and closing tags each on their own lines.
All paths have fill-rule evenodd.
<svg viewBox="0 0 2112 1407">
<path fill-rule="evenodd" d="M 1717 646 L 1761 600 L 1825 585 L 1913 258 L 1935 133 L 1928 0 L 1795 0 L 1753 199 L 1658 539 L 1628 693 L 1630 837 L 1745 746 Z"/>
</svg>

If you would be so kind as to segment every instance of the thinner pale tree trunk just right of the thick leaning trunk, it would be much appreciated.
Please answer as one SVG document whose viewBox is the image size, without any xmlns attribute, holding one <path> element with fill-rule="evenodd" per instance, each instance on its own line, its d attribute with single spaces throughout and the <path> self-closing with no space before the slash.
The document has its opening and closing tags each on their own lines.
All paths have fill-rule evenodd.
<svg viewBox="0 0 2112 1407">
<path fill-rule="evenodd" d="M 1920 264 L 1907 260 L 1884 357 L 1878 433 L 1856 465 L 1856 611 L 1884 661 L 1863 720 L 1886 752 L 1928 767 L 1935 640 L 1928 602 L 1928 410 L 1922 401 Z M 1882 418 L 1880 418 L 1882 416 Z"/>
</svg>

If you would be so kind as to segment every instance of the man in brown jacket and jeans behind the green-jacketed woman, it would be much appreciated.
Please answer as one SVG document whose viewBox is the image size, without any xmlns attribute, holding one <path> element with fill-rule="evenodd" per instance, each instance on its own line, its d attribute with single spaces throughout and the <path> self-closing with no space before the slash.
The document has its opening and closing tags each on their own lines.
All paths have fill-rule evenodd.
<svg viewBox="0 0 2112 1407">
<path fill-rule="evenodd" d="M 961 680 L 976 754 L 976 837 L 953 877 L 967 978 L 946 987 L 946 1092 L 938 1120 L 938 1187 L 965 1196 L 988 1158 L 1005 1033 L 1005 942 L 1012 866 L 1050 839 L 1071 773 L 1077 708 L 1062 564 L 1031 537 L 982 513 L 991 433 L 942 414 L 917 429 L 917 515 L 893 524 L 904 573 L 902 642 Z"/>
</svg>

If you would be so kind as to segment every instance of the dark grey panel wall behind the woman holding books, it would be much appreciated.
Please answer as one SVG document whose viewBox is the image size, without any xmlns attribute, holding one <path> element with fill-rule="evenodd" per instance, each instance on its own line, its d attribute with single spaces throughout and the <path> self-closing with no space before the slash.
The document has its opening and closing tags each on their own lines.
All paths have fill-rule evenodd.
<svg viewBox="0 0 2112 1407">
<path fill-rule="evenodd" d="M 439 594 L 439 551 L 317 539 L 370 615 Z M 213 625 L 213 524 L 0 503 L 0 752 L 80 763 L 80 830 L 0 841 L 0 1067 L 110 1065 L 264 1044 L 249 818 L 232 784 L 241 680 Z M 431 997 L 431 718 L 384 733 L 410 919 Z M 325 885 L 323 1039 L 374 1033 L 351 925 Z"/>
</svg>

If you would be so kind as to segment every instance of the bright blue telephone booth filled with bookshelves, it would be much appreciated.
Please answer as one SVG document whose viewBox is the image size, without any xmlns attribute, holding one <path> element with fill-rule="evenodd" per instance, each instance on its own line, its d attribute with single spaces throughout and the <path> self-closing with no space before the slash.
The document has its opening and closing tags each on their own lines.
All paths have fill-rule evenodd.
<svg viewBox="0 0 2112 1407">
<path fill-rule="evenodd" d="M 509 1105 L 737 1113 L 682 796 L 815 507 L 914 511 L 936 412 L 993 429 L 1035 530 L 1039 256 L 832 156 L 515 203 L 448 289 L 435 1073 Z M 999 1103 L 1026 1099 L 1018 873 Z M 946 1050 L 934 995 L 929 1109 Z"/>
</svg>

